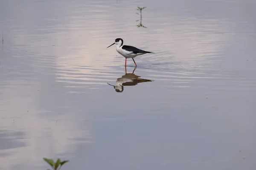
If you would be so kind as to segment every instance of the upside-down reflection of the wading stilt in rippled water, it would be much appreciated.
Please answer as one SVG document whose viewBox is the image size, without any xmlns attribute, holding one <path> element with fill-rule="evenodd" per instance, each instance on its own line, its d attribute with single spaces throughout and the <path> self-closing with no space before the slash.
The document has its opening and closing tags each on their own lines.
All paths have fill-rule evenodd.
<svg viewBox="0 0 256 170">
<path fill-rule="evenodd" d="M 132 86 L 132 85 L 137 85 L 138 83 L 141 82 L 152 82 L 153 80 L 149 79 L 141 79 L 140 76 L 137 76 L 134 74 L 134 71 L 136 70 L 137 67 L 134 68 L 132 73 L 127 73 L 126 72 L 126 67 L 125 67 L 125 75 L 122 77 L 118 78 L 116 80 L 116 85 L 111 85 L 108 83 L 108 85 L 111 85 L 114 87 L 116 92 L 123 92 L 124 91 L 124 86 Z"/>
</svg>

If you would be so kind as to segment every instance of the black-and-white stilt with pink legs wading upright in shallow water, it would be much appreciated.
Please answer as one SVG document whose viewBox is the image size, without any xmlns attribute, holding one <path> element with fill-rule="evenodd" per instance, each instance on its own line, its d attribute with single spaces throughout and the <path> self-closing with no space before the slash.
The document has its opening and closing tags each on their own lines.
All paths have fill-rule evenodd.
<svg viewBox="0 0 256 170">
<path fill-rule="evenodd" d="M 126 66 L 126 59 L 128 59 L 128 58 L 133 59 L 134 57 L 139 56 L 139 55 L 153 53 L 153 52 L 149 52 L 149 51 L 140 50 L 133 46 L 123 45 L 123 43 L 124 43 L 124 41 L 122 40 L 122 38 L 116 38 L 115 42 L 111 45 L 116 44 L 116 51 L 119 54 L 121 54 L 123 57 L 125 57 L 125 66 Z M 109 45 L 108 47 L 110 47 L 111 45 Z M 133 59 L 133 61 L 134 61 L 134 59 Z M 137 66 L 135 61 L 134 61 L 134 64 Z"/>
</svg>

